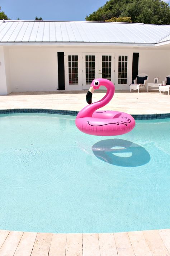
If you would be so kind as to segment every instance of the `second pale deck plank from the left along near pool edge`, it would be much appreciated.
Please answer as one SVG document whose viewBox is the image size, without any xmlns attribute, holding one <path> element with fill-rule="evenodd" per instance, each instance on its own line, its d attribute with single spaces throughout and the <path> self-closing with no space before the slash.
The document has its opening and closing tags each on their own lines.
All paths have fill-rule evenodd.
<svg viewBox="0 0 170 256">
<path fill-rule="evenodd" d="M 11 231 L 0 248 L 0 256 L 13 256 L 23 232 Z"/>
</svg>

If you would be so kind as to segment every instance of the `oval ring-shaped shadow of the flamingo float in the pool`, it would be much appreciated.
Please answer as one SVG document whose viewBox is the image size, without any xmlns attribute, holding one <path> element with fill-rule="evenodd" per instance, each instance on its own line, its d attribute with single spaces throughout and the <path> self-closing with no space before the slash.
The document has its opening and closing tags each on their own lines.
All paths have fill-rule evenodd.
<svg viewBox="0 0 170 256">
<path fill-rule="evenodd" d="M 123 167 L 145 165 L 151 159 L 145 148 L 122 139 L 100 140 L 93 145 L 92 151 L 100 160 Z"/>
</svg>

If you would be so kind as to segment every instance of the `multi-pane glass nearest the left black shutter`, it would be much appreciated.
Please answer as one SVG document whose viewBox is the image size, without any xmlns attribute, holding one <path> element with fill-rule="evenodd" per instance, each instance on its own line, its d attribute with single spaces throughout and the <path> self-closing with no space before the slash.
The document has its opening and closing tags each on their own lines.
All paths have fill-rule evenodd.
<svg viewBox="0 0 170 256">
<path fill-rule="evenodd" d="M 78 55 L 69 55 L 69 85 L 78 84 Z"/>
</svg>

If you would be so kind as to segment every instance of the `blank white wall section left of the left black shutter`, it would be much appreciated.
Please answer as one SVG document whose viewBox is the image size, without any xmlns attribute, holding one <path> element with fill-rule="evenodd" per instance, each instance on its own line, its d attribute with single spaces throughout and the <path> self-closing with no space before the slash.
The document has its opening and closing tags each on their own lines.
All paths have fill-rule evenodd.
<svg viewBox="0 0 170 256">
<path fill-rule="evenodd" d="M 58 88 L 56 49 L 12 47 L 9 59 L 12 91 L 55 91 Z"/>
</svg>

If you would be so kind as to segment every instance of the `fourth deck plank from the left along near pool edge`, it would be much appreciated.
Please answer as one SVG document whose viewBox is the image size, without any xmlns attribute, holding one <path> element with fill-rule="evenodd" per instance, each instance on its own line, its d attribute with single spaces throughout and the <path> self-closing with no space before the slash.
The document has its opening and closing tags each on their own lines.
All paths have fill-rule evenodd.
<svg viewBox="0 0 170 256">
<path fill-rule="evenodd" d="M 38 233 L 31 256 L 48 256 L 52 233 Z"/>
</svg>

